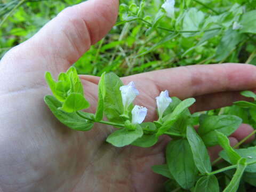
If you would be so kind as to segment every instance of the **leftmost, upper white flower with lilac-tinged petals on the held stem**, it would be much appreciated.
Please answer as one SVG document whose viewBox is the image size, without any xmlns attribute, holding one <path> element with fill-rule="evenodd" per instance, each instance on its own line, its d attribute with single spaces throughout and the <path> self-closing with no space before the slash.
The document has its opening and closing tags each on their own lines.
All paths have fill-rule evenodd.
<svg viewBox="0 0 256 192">
<path fill-rule="evenodd" d="M 124 110 L 127 110 L 132 101 L 139 94 L 139 91 L 135 88 L 134 82 L 130 82 L 128 85 L 121 86 L 119 89 L 122 94 Z"/>
</svg>

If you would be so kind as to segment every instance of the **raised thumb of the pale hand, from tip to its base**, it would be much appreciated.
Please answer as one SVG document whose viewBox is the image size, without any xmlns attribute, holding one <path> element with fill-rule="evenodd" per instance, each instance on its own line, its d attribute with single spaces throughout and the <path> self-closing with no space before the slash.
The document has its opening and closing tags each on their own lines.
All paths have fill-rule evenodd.
<svg viewBox="0 0 256 192">
<path fill-rule="evenodd" d="M 14 69 L 19 73 L 50 70 L 55 75 L 65 71 L 108 33 L 117 14 L 118 0 L 89 0 L 68 7 L 28 41 L 6 53 L 0 68 L 7 69 L 9 75 Z"/>
</svg>

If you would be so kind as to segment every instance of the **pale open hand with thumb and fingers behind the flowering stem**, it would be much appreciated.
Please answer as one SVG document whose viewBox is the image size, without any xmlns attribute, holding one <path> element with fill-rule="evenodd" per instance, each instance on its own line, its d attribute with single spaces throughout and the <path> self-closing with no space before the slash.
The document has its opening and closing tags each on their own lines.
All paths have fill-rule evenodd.
<svg viewBox="0 0 256 192">
<path fill-rule="evenodd" d="M 156 146 L 116 148 L 106 143 L 114 131 L 95 124 L 89 132 L 70 130 L 51 114 L 43 101 L 51 94 L 45 71 L 54 77 L 66 71 L 92 44 L 113 27 L 117 0 L 90 0 L 69 7 L 34 37 L 14 47 L 0 62 L 0 191 L 159 191 L 164 179 L 150 166 L 164 163 L 168 137 Z M 97 106 L 99 77 L 81 76 L 85 97 Z M 124 77 L 140 95 L 135 103 L 148 108 L 146 121 L 156 119 L 155 97 L 195 97 L 191 111 L 231 105 L 244 99 L 239 91 L 256 88 L 251 65 L 188 66 Z M 242 125 L 231 145 L 252 132 Z M 251 138 L 250 140 L 252 140 Z M 209 149 L 217 157 L 219 147 Z"/>
</svg>

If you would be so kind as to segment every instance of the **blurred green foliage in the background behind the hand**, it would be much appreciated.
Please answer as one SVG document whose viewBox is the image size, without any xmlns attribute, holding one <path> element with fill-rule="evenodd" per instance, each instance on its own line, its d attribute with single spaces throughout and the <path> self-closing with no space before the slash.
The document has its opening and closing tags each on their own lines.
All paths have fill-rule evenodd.
<svg viewBox="0 0 256 192">
<path fill-rule="evenodd" d="M 0 0 L 0 57 L 65 7 L 81 2 Z M 179 0 L 175 19 L 166 16 L 163 3 L 121 0 L 116 26 L 75 63 L 79 73 L 124 76 L 208 63 L 256 65 L 256 1 Z M 242 28 L 234 30 L 235 22 Z"/>
</svg>

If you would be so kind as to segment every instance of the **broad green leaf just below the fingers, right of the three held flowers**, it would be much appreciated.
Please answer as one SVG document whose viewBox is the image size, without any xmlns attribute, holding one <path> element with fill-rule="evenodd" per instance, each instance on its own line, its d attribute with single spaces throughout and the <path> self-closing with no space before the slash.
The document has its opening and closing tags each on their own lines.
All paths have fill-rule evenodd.
<svg viewBox="0 0 256 192">
<path fill-rule="evenodd" d="M 242 119 L 234 115 L 206 116 L 203 121 L 202 119 L 200 121 L 198 134 L 207 147 L 218 145 L 218 138 L 214 130 L 229 136 L 241 123 Z"/>
</svg>

